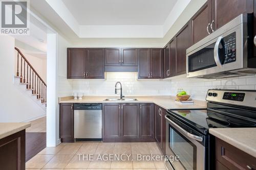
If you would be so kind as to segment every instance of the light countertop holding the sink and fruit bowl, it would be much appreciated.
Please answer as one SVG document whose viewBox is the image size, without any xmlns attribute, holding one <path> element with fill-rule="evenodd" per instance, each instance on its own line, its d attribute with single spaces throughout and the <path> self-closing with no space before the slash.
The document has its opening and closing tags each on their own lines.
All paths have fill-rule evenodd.
<svg viewBox="0 0 256 170">
<path fill-rule="evenodd" d="M 118 98 L 118 96 L 83 96 L 81 100 L 74 100 L 72 96 L 69 96 L 59 98 L 59 103 L 155 103 L 164 109 L 206 108 L 205 101 L 194 100 L 194 104 L 179 104 L 175 102 L 175 96 L 125 96 L 125 98 L 135 98 L 138 101 L 104 101 L 107 98 Z"/>
</svg>

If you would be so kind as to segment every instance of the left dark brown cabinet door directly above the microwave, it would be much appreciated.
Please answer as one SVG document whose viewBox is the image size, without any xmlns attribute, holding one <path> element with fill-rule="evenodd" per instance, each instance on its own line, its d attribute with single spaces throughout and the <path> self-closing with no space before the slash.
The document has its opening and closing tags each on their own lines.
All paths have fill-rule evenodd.
<svg viewBox="0 0 256 170">
<path fill-rule="evenodd" d="M 211 29 L 211 1 L 208 0 L 203 7 L 191 18 L 192 42 L 197 43 L 209 33 Z M 207 32 L 208 29 L 208 32 Z"/>
</svg>

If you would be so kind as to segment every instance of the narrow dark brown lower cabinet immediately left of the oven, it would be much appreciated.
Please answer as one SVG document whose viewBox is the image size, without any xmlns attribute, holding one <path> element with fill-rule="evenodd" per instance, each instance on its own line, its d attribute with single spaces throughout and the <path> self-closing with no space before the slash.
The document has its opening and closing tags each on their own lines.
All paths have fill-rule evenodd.
<svg viewBox="0 0 256 170">
<path fill-rule="evenodd" d="M 155 105 L 155 138 L 158 147 L 161 149 L 162 153 L 165 154 L 165 114 L 166 110 L 158 105 Z"/>
</svg>

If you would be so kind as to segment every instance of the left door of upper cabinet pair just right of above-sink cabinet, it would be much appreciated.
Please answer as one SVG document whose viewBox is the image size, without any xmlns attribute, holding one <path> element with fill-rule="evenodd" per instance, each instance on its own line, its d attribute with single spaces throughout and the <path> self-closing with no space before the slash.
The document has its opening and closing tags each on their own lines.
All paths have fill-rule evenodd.
<svg viewBox="0 0 256 170">
<path fill-rule="evenodd" d="M 150 78 L 150 49 L 138 49 L 138 79 Z"/>
</svg>

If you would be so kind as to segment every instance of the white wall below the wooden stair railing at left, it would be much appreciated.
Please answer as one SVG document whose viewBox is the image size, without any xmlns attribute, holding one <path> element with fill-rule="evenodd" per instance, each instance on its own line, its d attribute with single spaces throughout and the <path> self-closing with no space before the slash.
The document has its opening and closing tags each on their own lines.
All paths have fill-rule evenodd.
<svg viewBox="0 0 256 170">
<path fill-rule="evenodd" d="M 46 114 L 14 85 L 14 41 L 0 36 L 0 122 L 24 122 Z"/>
</svg>

